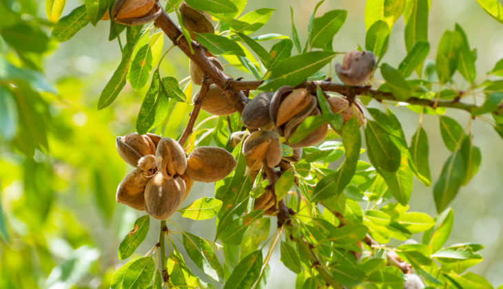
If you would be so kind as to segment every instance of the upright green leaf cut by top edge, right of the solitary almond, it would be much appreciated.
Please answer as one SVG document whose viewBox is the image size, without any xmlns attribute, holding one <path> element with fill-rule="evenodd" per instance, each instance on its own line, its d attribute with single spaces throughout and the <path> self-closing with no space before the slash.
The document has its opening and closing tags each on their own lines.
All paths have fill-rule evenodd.
<svg viewBox="0 0 503 289">
<path fill-rule="evenodd" d="M 411 0 L 409 21 L 405 25 L 404 38 L 407 52 L 412 50 L 418 41 L 428 41 L 428 0 Z"/>
</svg>

